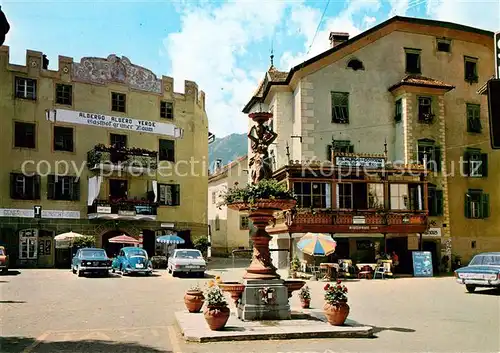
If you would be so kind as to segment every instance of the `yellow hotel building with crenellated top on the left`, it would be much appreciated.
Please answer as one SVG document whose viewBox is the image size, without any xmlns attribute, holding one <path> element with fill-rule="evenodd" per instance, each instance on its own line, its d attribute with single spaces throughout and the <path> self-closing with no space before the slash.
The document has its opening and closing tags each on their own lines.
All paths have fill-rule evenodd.
<svg viewBox="0 0 500 353">
<path fill-rule="evenodd" d="M 26 65 L 0 47 L 0 242 L 13 263 L 64 266 L 54 236 L 96 237 L 112 256 L 127 234 L 150 256 L 155 237 L 177 232 L 186 246 L 207 235 L 208 120 L 195 82 L 174 92 L 126 57 L 41 52 Z"/>
</svg>

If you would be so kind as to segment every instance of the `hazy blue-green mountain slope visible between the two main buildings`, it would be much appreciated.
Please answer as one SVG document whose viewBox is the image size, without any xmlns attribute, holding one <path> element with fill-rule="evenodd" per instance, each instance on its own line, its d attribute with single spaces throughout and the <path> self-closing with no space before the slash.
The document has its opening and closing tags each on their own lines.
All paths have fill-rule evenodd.
<svg viewBox="0 0 500 353">
<path fill-rule="evenodd" d="M 208 160 L 210 170 L 213 169 L 217 159 L 222 160 L 222 165 L 226 165 L 236 158 L 248 153 L 247 135 L 231 134 L 221 138 L 215 138 L 215 141 L 208 145 Z"/>
</svg>

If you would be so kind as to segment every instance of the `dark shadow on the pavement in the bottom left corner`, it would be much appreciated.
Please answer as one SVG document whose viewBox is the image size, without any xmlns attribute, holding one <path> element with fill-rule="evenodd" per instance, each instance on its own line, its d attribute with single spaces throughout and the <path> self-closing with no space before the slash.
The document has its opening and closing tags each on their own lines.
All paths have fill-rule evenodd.
<svg viewBox="0 0 500 353">
<path fill-rule="evenodd" d="M 159 350 L 153 347 L 143 346 L 137 343 L 110 342 L 110 341 L 57 341 L 57 342 L 37 342 L 31 337 L 0 337 L 0 351 L 8 353 L 19 353 L 23 351 L 36 353 L 87 353 L 87 352 L 106 352 L 106 353 L 173 353 L 172 351 Z"/>
</svg>

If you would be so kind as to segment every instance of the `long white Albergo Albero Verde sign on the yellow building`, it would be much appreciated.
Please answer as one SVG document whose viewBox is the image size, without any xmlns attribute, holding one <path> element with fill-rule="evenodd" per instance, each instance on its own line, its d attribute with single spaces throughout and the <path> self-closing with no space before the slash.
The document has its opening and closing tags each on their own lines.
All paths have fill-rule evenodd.
<svg viewBox="0 0 500 353">
<path fill-rule="evenodd" d="M 52 109 L 46 112 L 47 120 L 70 124 L 89 125 L 105 129 L 145 132 L 149 134 L 182 138 L 183 129 L 174 124 L 159 121 L 140 120 L 122 116 L 85 113 L 66 109 Z"/>
</svg>

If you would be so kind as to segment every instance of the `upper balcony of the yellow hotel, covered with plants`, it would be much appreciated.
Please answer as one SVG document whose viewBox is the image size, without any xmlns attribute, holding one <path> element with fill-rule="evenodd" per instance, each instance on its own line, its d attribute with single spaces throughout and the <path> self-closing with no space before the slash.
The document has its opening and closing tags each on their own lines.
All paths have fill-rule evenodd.
<svg viewBox="0 0 500 353">
<path fill-rule="evenodd" d="M 87 167 L 106 172 L 147 173 L 157 169 L 157 154 L 142 148 L 115 148 L 100 144 L 87 152 Z"/>
</svg>

